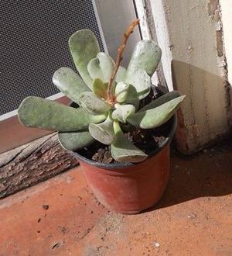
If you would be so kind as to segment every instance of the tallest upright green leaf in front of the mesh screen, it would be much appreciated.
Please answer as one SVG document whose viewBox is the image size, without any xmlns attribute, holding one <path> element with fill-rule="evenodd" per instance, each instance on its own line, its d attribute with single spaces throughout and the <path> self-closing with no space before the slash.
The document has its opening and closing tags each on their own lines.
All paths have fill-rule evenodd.
<svg viewBox="0 0 232 256">
<path fill-rule="evenodd" d="M 90 29 L 82 29 L 73 33 L 69 40 L 70 52 L 81 78 L 89 88 L 93 79 L 87 71 L 87 64 L 100 52 L 97 39 Z"/>
</svg>

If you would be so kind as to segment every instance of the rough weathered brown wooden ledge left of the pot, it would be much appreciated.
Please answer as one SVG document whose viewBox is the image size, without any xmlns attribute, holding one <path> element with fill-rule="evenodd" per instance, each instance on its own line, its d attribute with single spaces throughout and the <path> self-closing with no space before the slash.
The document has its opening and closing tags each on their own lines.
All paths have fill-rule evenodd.
<svg viewBox="0 0 232 256">
<path fill-rule="evenodd" d="M 77 160 L 60 147 L 56 133 L 0 154 L 0 199 L 77 164 Z"/>
</svg>

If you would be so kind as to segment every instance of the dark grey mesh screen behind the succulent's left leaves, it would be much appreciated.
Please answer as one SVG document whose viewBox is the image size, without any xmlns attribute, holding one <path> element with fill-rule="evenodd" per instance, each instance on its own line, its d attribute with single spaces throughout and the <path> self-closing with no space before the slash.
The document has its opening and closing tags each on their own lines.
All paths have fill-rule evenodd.
<svg viewBox="0 0 232 256">
<path fill-rule="evenodd" d="M 28 95 L 59 92 L 52 83 L 59 67 L 72 67 L 69 37 L 91 29 L 101 35 L 90 0 L 0 1 L 0 115 L 18 109 Z"/>
</svg>

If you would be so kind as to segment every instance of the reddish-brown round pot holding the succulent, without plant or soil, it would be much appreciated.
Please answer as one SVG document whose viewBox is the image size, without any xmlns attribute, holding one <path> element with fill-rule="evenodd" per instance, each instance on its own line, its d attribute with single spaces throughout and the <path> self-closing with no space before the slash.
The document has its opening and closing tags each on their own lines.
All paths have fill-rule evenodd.
<svg viewBox="0 0 232 256">
<path fill-rule="evenodd" d="M 165 191 L 169 180 L 169 144 L 175 131 L 176 116 L 172 116 L 169 136 L 138 164 L 101 164 L 75 152 L 73 155 L 84 168 L 99 202 L 114 212 L 139 213 L 154 206 Z"/>
</svg>

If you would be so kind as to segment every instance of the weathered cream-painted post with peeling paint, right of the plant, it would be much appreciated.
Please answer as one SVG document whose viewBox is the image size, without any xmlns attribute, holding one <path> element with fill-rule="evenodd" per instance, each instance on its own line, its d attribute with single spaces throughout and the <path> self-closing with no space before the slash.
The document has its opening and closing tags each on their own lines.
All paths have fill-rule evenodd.
<svg viewBox="0 0 232 256">
<path fill-rule="evenodd" d="M 177 140 L 179 149 L 190 154 L 230 132 L 220 5 L 218 0 L 149 2 L 169 90 L 178 89 L 186 95 L 179 111 Z M 227 28 L 231 27 L 227 22 Z M 231 33 L 227 33 L 227 40 L 231 40 Z"/>
</svg>

